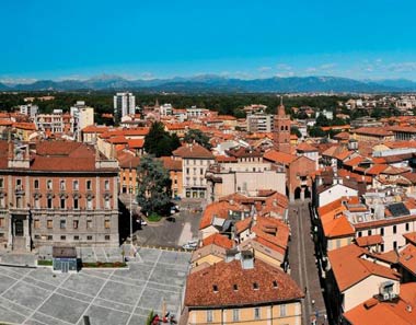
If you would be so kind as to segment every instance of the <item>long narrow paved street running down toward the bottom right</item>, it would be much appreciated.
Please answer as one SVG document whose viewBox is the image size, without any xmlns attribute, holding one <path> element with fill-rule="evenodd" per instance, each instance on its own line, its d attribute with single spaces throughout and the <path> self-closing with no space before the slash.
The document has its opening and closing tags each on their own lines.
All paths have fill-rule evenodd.
<svg viewBox="0 0 416 325">
<path fill-rule="evenodd" d="M 308 202 L 294 202 L 289 208 L 291 241 L 289 244 L 289 263 L 292 278 L 305 292 L 302 304 L 303 323 L 327 324 L 323 292 L 315 263 L 314 243 L 311 235 L 311 217 Z"/>
</svg>

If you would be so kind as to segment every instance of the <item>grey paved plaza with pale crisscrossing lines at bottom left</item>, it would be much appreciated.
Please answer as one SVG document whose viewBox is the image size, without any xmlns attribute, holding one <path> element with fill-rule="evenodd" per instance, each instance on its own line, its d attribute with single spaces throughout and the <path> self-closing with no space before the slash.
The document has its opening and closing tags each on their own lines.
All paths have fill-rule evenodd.
<svg viewBox="0 0 416 325">
<path fill-rule="evenodd" d="M 49 268 L 0 266 L 0 323 L 27 325 L 142 325 L 151 310 L 176 316 L 189 253 L 139 248 L 128 269 L 83 269 L 53 274 Z"/>
</svg>

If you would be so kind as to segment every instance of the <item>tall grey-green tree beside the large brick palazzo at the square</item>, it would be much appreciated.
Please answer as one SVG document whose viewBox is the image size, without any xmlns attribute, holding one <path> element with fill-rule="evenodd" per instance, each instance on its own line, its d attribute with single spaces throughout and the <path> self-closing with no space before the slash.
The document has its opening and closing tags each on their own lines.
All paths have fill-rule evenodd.
<svg viewBox="0 0 416 325">
<path fill-rule="evenodd" d="M 137 201 L 145 213 L 163 216 L 170 208 L 172 181 L 162 161 L 143 155 L 137 167 L 139 183 Z"/>
</svg>

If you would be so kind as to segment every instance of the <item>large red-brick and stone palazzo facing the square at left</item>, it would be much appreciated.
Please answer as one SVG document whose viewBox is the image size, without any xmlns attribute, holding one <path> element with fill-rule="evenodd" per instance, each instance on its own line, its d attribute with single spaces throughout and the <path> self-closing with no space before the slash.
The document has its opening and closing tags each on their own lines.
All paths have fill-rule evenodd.
<svg viewBox="0 0 416 325">
<path fill-rule="evenodd" d="M 0 241 L 118 245 L 118 169 L 80 142 L 0 141 Z"/>
</svg>

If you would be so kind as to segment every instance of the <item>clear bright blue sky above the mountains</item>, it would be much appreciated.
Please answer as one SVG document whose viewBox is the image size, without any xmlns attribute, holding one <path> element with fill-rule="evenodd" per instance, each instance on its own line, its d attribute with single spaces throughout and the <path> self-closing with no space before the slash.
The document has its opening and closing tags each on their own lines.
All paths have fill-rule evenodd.
<svg viewBox="0 0 416 325">
<path fill-rule="evenodd" d="M 416 80 L 415 1 L 1 0 L 0 81 Z"/>
</svg>

